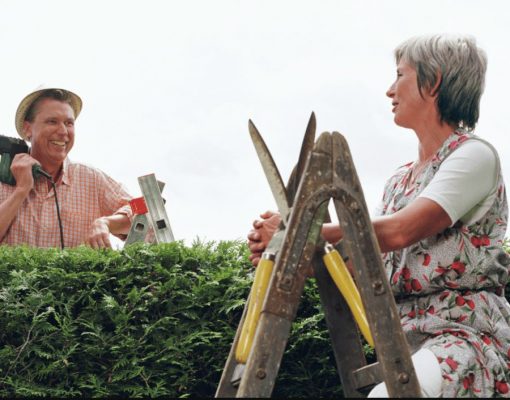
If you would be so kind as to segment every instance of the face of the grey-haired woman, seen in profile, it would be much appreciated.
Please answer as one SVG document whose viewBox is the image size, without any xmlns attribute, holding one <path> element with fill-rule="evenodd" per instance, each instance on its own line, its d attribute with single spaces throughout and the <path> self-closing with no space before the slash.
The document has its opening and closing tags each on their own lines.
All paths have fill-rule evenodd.
<svg viewBox="0 0 510 400">
<path fill-rule="evenodd" d="M 430 117 L 430 105 L 435 106 L 434 97 L 418 90 L 416 70 L 400 60 L 397 65 L 397 79 L 390 86 L 386 95 L 391 98 L 394 121 L 403 128 L 416 129 L 427 123 Z M 432 100 L 432 103 L 431 103 Z"/>
</svg>

